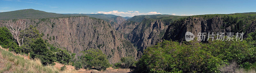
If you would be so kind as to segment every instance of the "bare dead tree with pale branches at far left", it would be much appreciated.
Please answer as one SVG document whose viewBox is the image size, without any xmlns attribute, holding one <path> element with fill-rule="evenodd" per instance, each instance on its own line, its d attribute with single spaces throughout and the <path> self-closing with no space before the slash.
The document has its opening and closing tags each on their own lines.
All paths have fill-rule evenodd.
<svg viewBox="0 0 256 73">
<path fill-rule="evenodd" d="M 22 19 L 18 20 L 17 24 L 15 22 L 13 23 L 12 20 L 6 23 L 7 28 L 11 31 L 13 38 L 17 41 L 19 46 L 21 46 L 19 37 L 20 30 L 25 29 L 28 23 L 24 22 Z"/>
</svg>

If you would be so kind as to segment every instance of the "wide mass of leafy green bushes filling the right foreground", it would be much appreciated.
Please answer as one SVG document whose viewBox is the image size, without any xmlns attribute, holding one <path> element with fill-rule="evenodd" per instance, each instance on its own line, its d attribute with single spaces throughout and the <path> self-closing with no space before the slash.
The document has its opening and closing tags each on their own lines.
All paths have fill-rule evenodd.
<svg viewBox="0 0 256 73">
<path fill-rule="evenodd" d="M 144 50 L 135 72 L 220 72 L 218 67 L 236 61 L 239 67 L 256 62 L 255 35 L 243 41 L 209 41 L 181 44 L 164 40 Z"/>
</svg>

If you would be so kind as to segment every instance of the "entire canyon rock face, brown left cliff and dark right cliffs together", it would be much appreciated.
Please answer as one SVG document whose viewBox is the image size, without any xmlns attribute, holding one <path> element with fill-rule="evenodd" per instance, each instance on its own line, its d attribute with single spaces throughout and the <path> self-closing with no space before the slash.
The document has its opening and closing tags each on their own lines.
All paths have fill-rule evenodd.
<svg viewBox="0 0 256 73">
<path fill-rule="evenodd" d="M 49 42 L 57 47 L 66 48 L 78 56 L 80 51 L 99 48 L 107 55 L 110 63 L 118 62 L 125 56 L 133 56 L 138 60 L 144 49 L 163 39 L 185 41 L 186 32 L 191 32 L 197 37 L 197 33 L 232 32 L 234 27 L 224 25 L 221 17 L 194 17 L 173 23 L 149 18 L 144 18 L 141 22 L 133 22 L 117 17 L 118 22 L 115 21 L 115 25 L 102 19 L 89 17 L 24 20 L 44 33 L 44 39 L 49 40 L 49 37 L 54 37 L 55 40 L 49 40 Z M 5 26 L 4 22 L 6 21 L 0 21 L 0 26 Z M 244 35 L 255 32 L 255 25 L 256 21 L 253 20 Z"/>
</svg>

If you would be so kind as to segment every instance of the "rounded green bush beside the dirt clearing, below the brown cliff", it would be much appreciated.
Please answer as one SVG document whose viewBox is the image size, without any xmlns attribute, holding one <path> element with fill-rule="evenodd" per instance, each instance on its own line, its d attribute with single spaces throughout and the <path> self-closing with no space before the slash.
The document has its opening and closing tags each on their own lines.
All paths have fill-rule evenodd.
<svg viewBox="0 0 256 73">
<path fill-rule="evenodd" d="M 82 53 L 83 55 L 78 57 L 79 60 L 75 63 L 76 68 L 84 67 L 88 69 L 106 70 L 110 66 L 107 56 L 100 49 L 89 49 L 82 51 Z"/>
</svg>

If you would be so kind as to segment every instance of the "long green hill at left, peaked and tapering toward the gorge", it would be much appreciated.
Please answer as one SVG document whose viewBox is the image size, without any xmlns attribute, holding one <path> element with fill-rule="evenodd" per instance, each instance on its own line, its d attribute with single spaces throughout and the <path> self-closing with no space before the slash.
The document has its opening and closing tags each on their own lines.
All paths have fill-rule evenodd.
<svg viewBox="0 0 256 73">
<path fill-rule="evenodd" d="M 32 18 L 32 19 L 54 18 L 54 17 L 70 17 L 70 16 L 89 16 L 89 17 L 104 19 L 106 21 L 110 21 L 109 19 L 114 19 L 116 17 L 121 17 L 121 16 L 112 15 L 112 14 L 58 14 L 58 13 L 51 13 L 51 12 L 34 10 L 34 9 L 0 12 L 0 20 L 24 19 L 24 18 Z"/>
</svg>

